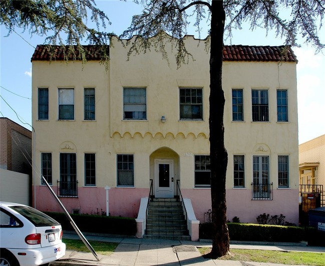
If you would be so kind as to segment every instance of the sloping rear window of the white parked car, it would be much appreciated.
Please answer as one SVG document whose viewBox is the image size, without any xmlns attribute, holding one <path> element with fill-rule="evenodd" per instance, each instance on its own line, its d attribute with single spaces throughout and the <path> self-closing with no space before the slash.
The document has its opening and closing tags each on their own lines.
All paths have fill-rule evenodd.
<svg viewBox="0 0 325 266">
<path fill-rule="evenodd" d="M 18 213 L 22 214 L 25 218 L 30 220 L 35 226 L 44 225 L 59 225 L 59 223 L 46 215 L 45 213 L 28 206 L 11 206 L 11 208 Z"/>
</svg>

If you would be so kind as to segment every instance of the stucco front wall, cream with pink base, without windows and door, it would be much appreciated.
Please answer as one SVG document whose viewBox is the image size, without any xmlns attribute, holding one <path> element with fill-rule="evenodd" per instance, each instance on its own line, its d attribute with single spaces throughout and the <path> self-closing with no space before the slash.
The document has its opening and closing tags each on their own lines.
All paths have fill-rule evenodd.
<svg viewBox="0 0 325 266">
<path fill-rule="evenodd" d="M 149 179 L 154 175 L 155 158 L 174 160 L 174 177 L 180 180 L 182 193 L 191 198 L 197 218 L 204 221 L 210 208 L 210 189 L 194 188 L 194 156 L 209 154 L 208 97 L 209 54 L 204 42 L 186 39 L 188 51 L 195 61 L 177 69 L 171 55 L 169 65 L 159 53 L 131 57 L 120 43 L 110 50 L 110 69 L 99 62 L 89 61 L 84 69 L 80 62 L 33 62 L 33 159 L 40 169 L 41 152 L 52 152 L 53 187 L 60 180 L 59 155 L 77 153 L 79 199 L 64 201 L 68 210 L 105 209 L 104 186 L 110 190 L 112 215 L 135 216 L 140 199 L 148 196 Z M 168 47 L 167 47 L 168 49 Z M 173 52 L 174 54 L 175 52 Z M 224 125 L 228 151 L 227 201 L 228 217 L 238 216 L 243 222 L 255 222 L 263 213 L 283 213 L 287 221 L 298 218 L 298 138 L 295 63 L 224 62 L 223 89 L 226 98 Z M 38 88 L 49 88 L 49 121 L 37 120 Z M 95 88 L 96 121 L 83 121 L 83 89 Z M 147 120 L 123 120 L 123 87 L 146 87 Z M 179 88 L 203 89 L 203 121 L 180 121 Z M 58 121 L 58 88 L 75 89 L 75 120 Z M 244 93 L 244 121 L 232 122 L 231 89 Z M 252 122 L 251 89 L 269 92 L 269 122 Z M 289 122 L 276 122 L 276 89 L 288 90 Z M 213 108 L 213 106 L 211 106 Z M 166 123 L 161 123 L 161 116 Z M 66 145 L 68 144 L 68 145 Z M 68 149 L 67 149 L 68 147 Z M 262 147 L 262 149 L 260 149 Z M 262 151 L 260 151 L 262 150 Z M 96 153 L 96 187 L 84 186 L 84 153 Z M 116 154 L 134 154 L 134 188 L 116 186 Z M 233 155 L 245 155 L 245 187 L 233 188 Z M 273 200 L 251 200 L 252 156 L 268 155 Z M 277 156 L 289 155 L 289 188 L 277 187 Z M 176 182 L 174 182 L 176 185 Z M 37 182 L 38 186 L 40 182 Z M 175 190 L 176 191 L 176 190 Z M 36 203 L 47 209 L 42 198 L 46 189 L 38 187 Z M 87 195 L 87 196 L 85 196 Z M 55 208 L 53 204 L 52 208 Z"/>
</svg>

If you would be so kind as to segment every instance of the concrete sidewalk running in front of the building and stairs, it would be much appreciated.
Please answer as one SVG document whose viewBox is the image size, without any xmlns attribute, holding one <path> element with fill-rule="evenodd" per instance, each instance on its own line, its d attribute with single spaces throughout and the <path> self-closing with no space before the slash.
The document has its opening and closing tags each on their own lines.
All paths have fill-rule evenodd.
<svg viewBox="0 0 325 266">
<path fill-rule="evenodd" d="M 183 241 L 163 239 L 142 239 L 109 237 L 103 235 L 85 234 L 87 240 L 119 243 L 114 253 L 110 256 L 98 254 L 99 261 L 91 252 L 77 252 L 67 250 L 66 255 L 52 262 L 54 266 L 74 265 L 124 265 L 124 266 L 149 266 L 149 265 L 219 265 L 219 266 L 275 266 L 282 264 L 244 262 L 236 260 L 219 260 L 203 258 L 197 247 L 209 246 L 209 241 Z M 64 233 L 64 238 L 80 239 L 75 233 Z M 308 251 L 325 252 L 325 247 L 307 246 L 300 243 L 244 243 L 231 242 L 230 248 L 262 249 L 280 251 Z M 325 265 L 325 260 L 324 260 Z M 287 266 L 287 265 L 286 265 Z"/>
</svg>

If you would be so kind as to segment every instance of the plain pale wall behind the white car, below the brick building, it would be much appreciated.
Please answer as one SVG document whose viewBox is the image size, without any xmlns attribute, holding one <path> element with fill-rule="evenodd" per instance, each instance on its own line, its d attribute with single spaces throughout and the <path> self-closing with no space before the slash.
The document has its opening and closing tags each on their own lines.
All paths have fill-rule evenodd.
<svg viewBox="0 0 325 266">
<path fill-rule="evenodd" d="M 30 204 L 30 176 L 0 168 L 0 201 Z"/>
</svg>

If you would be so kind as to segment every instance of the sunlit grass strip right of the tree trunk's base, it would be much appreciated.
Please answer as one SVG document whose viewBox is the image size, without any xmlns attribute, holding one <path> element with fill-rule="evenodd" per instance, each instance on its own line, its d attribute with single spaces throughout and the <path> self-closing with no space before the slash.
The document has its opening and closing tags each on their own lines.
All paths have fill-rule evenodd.
<svg viewBox="0 0 325 266">
<path fill-rule="evenodd" d="M 201 254 L 210 252 L 210 248 L 199 248 Z M 274 251 L 255 249 L 230 249 L 231 255 L 220 257 L 225 260 L 268 262 L 279 264 L 325 265 L 325 253 Z"/>
</svg>

